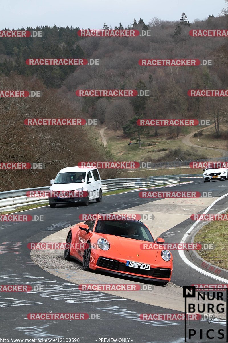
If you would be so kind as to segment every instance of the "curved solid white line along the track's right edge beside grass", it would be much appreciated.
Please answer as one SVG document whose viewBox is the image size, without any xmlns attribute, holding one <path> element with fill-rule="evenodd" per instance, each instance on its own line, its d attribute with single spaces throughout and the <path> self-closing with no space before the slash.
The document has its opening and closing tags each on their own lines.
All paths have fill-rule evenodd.
<svg viewBox="0 0 228 343">
<path fill-rule="evenodd" d="M 219 200 L 221 200 L 221 199 L 223 199 L 223 198 L 225 198 L 225 197 L 227 197 L 227 196 L 228 196 L 228 193 L 224 194 L 222 197 L 220 197 L 220 198 L 216 199 L 215 201 L 213 201 L 213 202 L 211 203 L 211 205 L 208 206 L 208 208 L 203 212 L 203 214 L 205 214 L 205 213 L 207 213 L 208 211 L 210 211 L 210 209 L 214 206 L 214 204 L 215 204 L 216 202 L 218 202 Z M 218 213 L 225 212 L 227 209 L 228 209 L 228 208 L 226 208 L 225 210 L 222 210 L 222 211 L 220 211 L 220 212 L 218 212 Z M 196 221 L 194 224 L 191 225 L 191 227 L 188 229 L 188 231 L 187 231 L 187 232 L 185 233 L 185 235 L 183 236 L 183 238 L 182 238 L 182 240 L 180 241 L 180 243 L 185 243 L 186 238 L 188 237 L 188 235 L 190 234 L 190 232 L 196 227 L 196 225 L 198 224 L 198 222 L 201 222 L 201 221 L 198 220 L 198 221 Z M 227 279 L 224 279 L 223 277 L 216 276 L 216 275 L 214 275 L 214 274 L 212 274 L 212 273 L 209 273 L 209 272 L 207 272 L 207 271 L 205 271 L 205 270 L 203 270 L 203 269 L 197 267 L 194 263 L 190 262 L 190 261 L 187 259 L 187 257 L 185 256 L 184 250 L 178 250 L 178 253 L 179 253 L 180 258 L 181 258 L 186 264 L 188 264 L 189 267 L 191 267 L 191 268 L 197 270 L 197 271 L 198 271 L 199 273 L 201 273 L 201 274 L 204 274 L 204 275 L 206 275 L 206 276 L 211 277 L 212 279 L 215 279 L 215 280 L 218 280 L 218 281 L 222 281 L 222 282 L 228 283 L 228 280 L 227 280 Z"/>
</svg>

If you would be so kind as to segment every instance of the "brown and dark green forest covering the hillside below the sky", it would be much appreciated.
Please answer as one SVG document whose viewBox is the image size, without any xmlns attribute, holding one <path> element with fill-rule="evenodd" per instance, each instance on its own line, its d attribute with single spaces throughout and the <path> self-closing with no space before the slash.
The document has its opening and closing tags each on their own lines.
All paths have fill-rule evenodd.
<svg viewBox="0 0 228 343">
<path fill-rule="evenodd" d="M 0 89 L 39 90 L 40 98 L 0 98 L 1 161 L 42 162 L 43 171 L 0 171 L 0 190 L 48 185 L 62 167 L 83 160 L 112 159 L 93 127 L 26 127 L 26 118 L 98 118 L 112 130 L 122 129 L 137 141 L 159 134 L 159 127 L 139 128 L 137 118 L 211 119 L 215 138 L 228 120 L 226 98 L 189 97 L 189 89 L 228 88 L 226 37 L 191 37 L 190 29 L 227 28 L 228 16 L 208 15 L 189 23 L 187 16 L 169 22 L 134 20 L 126 28 L 148 29 L 151 36 L 79 37 L 78 27 L 44 26 L 40 38 L 0 39 Z M 111 28 L 104 24 L 104 28 Z M 121 23 L 115 28 L 122 29 Z M 24 28 L 21 28 L 24 29 Z M 88 28 L 89 29 L 89 28 Z M 27 66 L 28 58 L 92 58 L 99 65 Z M 139 59 L 211 59 L 212 66 L 142 67 Z M 144 89 L 149 97 L 77 97 L 79 89 Z M 180 127 L 167 128 L 169 138 Z M 7 140 L 6 140 L 7 137 Z M 102 170 L 102 178 L 116 170 Z M 26 174 L 26 177 L 24 176 Z"/>
</svg>

